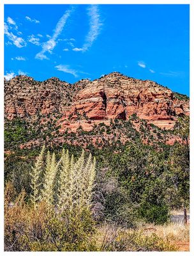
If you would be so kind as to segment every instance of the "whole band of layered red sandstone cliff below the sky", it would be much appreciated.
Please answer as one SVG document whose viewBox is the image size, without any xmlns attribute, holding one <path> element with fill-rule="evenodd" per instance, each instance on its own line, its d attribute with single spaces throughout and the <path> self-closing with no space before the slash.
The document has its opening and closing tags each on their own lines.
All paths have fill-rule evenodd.
<svg viewBox="0 0 194 256">
<path fill-rule="evenodd" d="M 94 124 L 110 124 L 111 119 L 139 118 L 161 129 L 173 129 L 178 116 L 190 115 L 189 99 L 153 81 L 142 81 L 119 72 L 89 81 L 69 84 L 52 77 L 34 81 L 17 76 L 4 81 L 4 111 L 8 120 L 20 116 L 60 113 L 59 131 L 76 132 L 82 126 L 91 131 Z"/>
</svg>

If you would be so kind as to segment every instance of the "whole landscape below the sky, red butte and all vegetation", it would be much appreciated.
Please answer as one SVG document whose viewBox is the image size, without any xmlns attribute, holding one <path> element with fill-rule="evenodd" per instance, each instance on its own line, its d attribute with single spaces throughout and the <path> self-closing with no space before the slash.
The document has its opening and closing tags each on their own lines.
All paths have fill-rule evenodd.
<svg viewBox="0 0 194 256">
<path fill-rule="evenodd" d="M 4 103 L 5 251 L 189 250 L 186 95 L 119 72 L 17 76 Z"/>
</svg>

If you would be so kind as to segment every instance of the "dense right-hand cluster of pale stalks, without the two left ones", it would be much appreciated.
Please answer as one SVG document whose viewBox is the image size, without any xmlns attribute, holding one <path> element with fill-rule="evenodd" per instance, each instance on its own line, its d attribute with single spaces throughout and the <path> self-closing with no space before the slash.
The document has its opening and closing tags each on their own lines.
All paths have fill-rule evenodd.
<svg viewBox="0 0 194 256">
<path fill-rule="evenodd" d="M 91 154 L 88 159 L 84 159 L 84 150 L 77 161 L 68 155 L 62 154 L 61 175 L 58 193 L 58 211 L 63 209 L 90 207 L 92 190 L 95 177 L 95 159 L 92 160 Z"/>
</svg>

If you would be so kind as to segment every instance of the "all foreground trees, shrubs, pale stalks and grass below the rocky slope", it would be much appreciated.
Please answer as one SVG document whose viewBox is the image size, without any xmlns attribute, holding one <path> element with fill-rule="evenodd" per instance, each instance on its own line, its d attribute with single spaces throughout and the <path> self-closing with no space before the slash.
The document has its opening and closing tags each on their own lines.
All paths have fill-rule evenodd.
<svg viewBox="0 0 194 256">
<path fill-rule="evenodd" d="M 169 217 L 189 206 L 188 127 L 180 118 L 173 146 L 134 137 L 114 150 L 14 148 L 5 158 L 4 250 L 181 250 L 189 228 Z"/>
</svg>

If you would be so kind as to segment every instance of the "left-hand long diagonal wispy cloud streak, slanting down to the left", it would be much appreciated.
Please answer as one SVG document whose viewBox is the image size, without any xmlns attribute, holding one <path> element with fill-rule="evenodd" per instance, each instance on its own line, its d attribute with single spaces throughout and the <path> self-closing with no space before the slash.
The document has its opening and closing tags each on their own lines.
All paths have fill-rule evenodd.
<svg viewBox="0 0 194 256">
<path fill-rule="evenodd" d="M 61 32 L 63 31 L 64 25 L 66 24 L 66 20 L 68 19 L 68 17 L 70 17 L 72 10 L 73 9 L 67 10 L 64 13 L 64 15 L 61 17 L 61 19 L 59 19 L 59 21 L 57 22 L 56 28 L 54 29 L 54 34 L 52 35 L 52 37 L 47 42 L 43 43 L 42 50 L 40 52 L 38 52 L 35 56 L 36 59 L 39 59 L 39 60 L 46 59 L 46 60 L 48 60 L 47 56 L 45 55 L 45 52 L 51 53 L 52 50 L 54 49 L 54 47 L 56 47 L 57 37 L 59 35 L 61 35 Z"/>
</svg>

